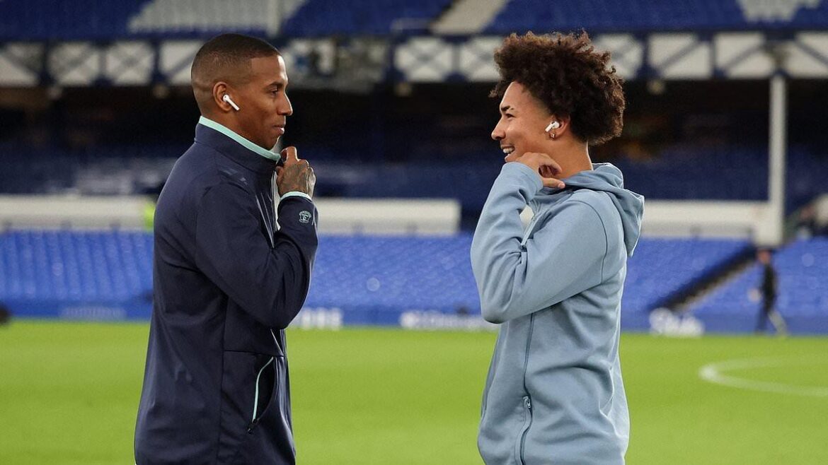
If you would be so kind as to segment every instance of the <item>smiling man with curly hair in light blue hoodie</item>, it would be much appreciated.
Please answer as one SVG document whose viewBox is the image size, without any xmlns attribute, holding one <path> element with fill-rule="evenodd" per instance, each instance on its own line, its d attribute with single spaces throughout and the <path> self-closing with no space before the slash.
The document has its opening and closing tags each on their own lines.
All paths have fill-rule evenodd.
<svg viewBox="0 0 828 465">
<path fill-rule="evenodd" d="M 494 55 L 506 154 L 471 247 L 484 319 L 501 324 L 483 395 L 486 463 L 623 463 L 619 362 L 627 257 L 643 197 L 589 146 L 621 132 L 622 80 L 580 35 L 509 36 Z M 523 228 L 527 204 L 534 216 Z"/>
</svg>

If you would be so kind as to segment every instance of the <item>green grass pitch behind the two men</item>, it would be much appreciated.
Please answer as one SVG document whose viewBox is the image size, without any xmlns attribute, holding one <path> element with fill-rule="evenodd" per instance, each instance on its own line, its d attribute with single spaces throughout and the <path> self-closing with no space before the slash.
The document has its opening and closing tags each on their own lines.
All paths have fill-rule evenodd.
<svg viewBox="0 0 828 465">
<path fill-rule="evenodd" d="M 0 463 L 132 463 L 147 330 L 0 328 Z M 475 441 L 494 337 L 291 329 L 298 462 L 482 463 Z M 828 463 L 828 338 L 625 334 L 621 352 L 629 464 Z M 700 379 L 701 367 L 734 359 L 759 360 L 722 373 L 744 386 Z"/>
</svg>

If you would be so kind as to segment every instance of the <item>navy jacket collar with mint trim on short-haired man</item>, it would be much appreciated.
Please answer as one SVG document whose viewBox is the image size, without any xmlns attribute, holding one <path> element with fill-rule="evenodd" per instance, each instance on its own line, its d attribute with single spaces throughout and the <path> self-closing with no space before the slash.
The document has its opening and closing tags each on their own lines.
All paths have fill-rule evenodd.
<svg viewBox="0 0 828 465">
<path fill-rule="evenodd" d="M 230 160 L 260 173 L 272 173 L 282 159 L 279 154 L 257 146 L 236 132 L 206 117 L 195 126 L 195 141 L 227 156 Z"/>
</svg>

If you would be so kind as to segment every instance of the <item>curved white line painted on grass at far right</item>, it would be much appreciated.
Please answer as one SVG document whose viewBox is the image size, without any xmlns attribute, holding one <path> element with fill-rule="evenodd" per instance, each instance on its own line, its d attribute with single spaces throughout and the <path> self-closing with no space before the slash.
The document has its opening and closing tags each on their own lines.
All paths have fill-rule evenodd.
<svg viewBox="0 0 828 465">
<path fill-rule="evenodd" d="M 699 377 L 714 384 L 736 387 L 750 391 L 775 392 L 777 394 L 809 395 L 812 397 L 828 397 L 828 387 L 797 386 L 773 381 L 756 381 L 737 376 L 725 375 L 723 372 L 744 368 L 789 367 L 792 365 L 820 365 L 828 364 L 822 359 L 819 362 L 792 358 L 746 358 L 741 360 L 726 360 L 724 362 L 709 363 L 699 369 Z"/>
</svg>

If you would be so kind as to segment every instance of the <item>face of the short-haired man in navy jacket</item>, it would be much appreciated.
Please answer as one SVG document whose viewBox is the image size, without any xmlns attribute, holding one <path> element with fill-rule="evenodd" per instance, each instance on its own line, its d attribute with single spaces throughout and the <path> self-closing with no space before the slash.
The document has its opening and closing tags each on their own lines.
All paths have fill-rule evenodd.
<svg viewBox="0 0 828 465">
<path fill-rule="evenodd" d="M 293 114 L 286 87 L 287 72 L 281 55 L 250 60 L 246 82 L 227 91 L 240 108 L 233 117 L 241 136 L 266 149 L 276 145 L 285 133 L 287 117 Z"/>
</svg>

